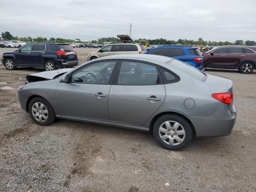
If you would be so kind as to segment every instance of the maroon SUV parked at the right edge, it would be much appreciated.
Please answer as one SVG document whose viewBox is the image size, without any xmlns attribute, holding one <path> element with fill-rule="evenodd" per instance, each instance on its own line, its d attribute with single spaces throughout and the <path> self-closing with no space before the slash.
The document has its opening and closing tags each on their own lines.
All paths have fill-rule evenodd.
<svg viewBox="0 0 256 192">
<path fill-rule="evenodd" d="M 204 68 L 238 69 L 245 74 L 256 69 L 255 46 L 220 46 L 202 55 Z"/>
</svg>

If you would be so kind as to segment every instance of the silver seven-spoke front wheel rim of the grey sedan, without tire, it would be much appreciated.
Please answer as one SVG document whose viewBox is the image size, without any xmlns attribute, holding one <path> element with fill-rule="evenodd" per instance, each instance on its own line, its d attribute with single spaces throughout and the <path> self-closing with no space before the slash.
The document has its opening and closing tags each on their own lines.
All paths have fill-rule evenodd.
<svg viewBox="0 0 256 192">
<path fill-rule="evenodd" d="M 45 122 L 48 118 L 48 110 L 46 106 L 40 102 L 32 105 L 32 115 L 39 122 Z"/>
</svg>

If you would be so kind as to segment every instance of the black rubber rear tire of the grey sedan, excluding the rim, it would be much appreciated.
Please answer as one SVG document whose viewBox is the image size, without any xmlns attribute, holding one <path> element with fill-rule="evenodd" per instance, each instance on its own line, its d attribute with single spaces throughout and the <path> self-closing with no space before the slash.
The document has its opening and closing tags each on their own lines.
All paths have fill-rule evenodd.
<svg viewBox="0 0 256 192">
<path fill-rule="evenodd" d="M 173 121 L 173 122 L 178 122 L 180 124 L 180 126 L 178 127 L 178 131 L 183 130 L 185 131 L 184 135 L 180 135 L 178 136 L 178 134 L 176 133 L 176 131 L 172 131 L 172 122 L 171 122 L 171 128 L 170 129 L 166 129 L 167 130 L 171 130 L 171 132 L 166 133 L 169 134 L 168 137 L 172 137 L 174 140 L 174 144 L 177 145 L 169 145 L 166 142 L 168 142 L 168 138 L 165 140 L 165 142 L 160 138 L 160 133 L 159 132 L 159 128 L 160 126 L 167 121 Z M 165 124 L 164 124 L 165 126 Z M 174 130 L 174 129 L 173 129 Z M 176 134 L 176 135 L 174 135 Z M 163 115 L 160 116 L 155 122 L 154 122 L 154 126 L 153 126 L 153 135 L 154 135 L 154 139 L 163 147 L 166 148 L 168 150 L 180 150 L 182 148 L 185 148 L 191 141 L 193 138 L 193 130 L 192 127 L 190 125 L 190 123 L 188 122 L 188 120 L 186 120 L 185 118 L 178 116 L 178 115 Z M 175 140 L 176 137 L 180 137 L 183 139 L 183 141 L 178 144 L 178 142 Z"/>
</svg>

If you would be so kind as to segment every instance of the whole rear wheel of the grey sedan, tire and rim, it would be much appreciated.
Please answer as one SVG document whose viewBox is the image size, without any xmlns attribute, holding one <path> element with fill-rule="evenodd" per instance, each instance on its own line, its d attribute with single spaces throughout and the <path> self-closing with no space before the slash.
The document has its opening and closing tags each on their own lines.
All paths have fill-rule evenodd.
<svg viewBox="0 0 256 192">
<path fill-rule="evenodd" d="M 180 150 L 193 138 L 190 123 L 178 115 L 160 116 L 154 122 L 153 135 L 155 140 L 168 150 Z"/>
</svg>

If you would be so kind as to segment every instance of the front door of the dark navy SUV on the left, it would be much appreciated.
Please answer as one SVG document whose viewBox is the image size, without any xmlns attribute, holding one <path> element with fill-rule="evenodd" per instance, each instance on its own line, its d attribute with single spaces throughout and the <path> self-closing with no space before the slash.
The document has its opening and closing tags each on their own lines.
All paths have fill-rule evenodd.
<svg viewBox="0 0 256 192">
<path fill-rule="evenodd" d="M 31 50 L 34 44 L 28 44 L 20 48 L 20 52 L 16 53 L 16 64 L 18 65 L 28 65 L 33 63 Z"/>
</svg>

